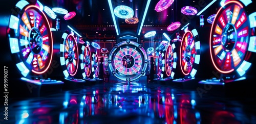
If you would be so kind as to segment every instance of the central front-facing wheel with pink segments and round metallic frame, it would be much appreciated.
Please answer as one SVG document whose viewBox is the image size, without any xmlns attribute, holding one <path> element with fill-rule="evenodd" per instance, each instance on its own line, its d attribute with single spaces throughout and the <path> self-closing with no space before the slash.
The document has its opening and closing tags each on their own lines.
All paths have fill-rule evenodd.
<svg viewBox="0 0 256 124">
<path fill-rule="evenodd" d="M 129 39 L 116 44 L 108 59 L 110 73 L 123 81 L 134 81 L 145 76 L 148 67 L 147 54 L 142 45 Z"/>
</svg>

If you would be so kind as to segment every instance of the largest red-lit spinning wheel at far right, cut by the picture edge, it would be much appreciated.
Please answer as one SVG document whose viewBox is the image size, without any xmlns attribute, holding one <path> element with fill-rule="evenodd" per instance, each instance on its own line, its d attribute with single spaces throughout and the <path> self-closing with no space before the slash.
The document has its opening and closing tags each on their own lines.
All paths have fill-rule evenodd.
<svg viewBox="0 0 256 124">
<path fill-rule="evenodd" d="M 225 8 L 220 8 L 212 23 L 210 34 L 210 56 L 215 68 L 224 75 L 243 76 L 251 63 L 251 52 L 255 51 L 256 13 L 249 13 L 245 5 L 238 1 L 230 1 Z M 252 28 L 252 29 L 251 29 Z"/>
</svg>

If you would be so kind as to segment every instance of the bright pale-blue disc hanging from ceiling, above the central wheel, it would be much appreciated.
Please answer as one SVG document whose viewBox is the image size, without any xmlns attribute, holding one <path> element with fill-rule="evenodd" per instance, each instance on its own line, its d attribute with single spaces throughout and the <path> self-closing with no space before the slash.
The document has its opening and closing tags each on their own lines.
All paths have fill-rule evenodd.
<svg viewBox="0 0 256 124">
<path fill-rule="evenodd" d="M 134 11 L 132 8 L 128 7 L 128 6 L 117 6 L 115 9 L 114 9 L 114 14 L 119 17 L 119 18 L 123 18 L 123 19 L 126 19 L 126 18 L 132 18 L 133 15 L 134 15 Z"/>
</svg>

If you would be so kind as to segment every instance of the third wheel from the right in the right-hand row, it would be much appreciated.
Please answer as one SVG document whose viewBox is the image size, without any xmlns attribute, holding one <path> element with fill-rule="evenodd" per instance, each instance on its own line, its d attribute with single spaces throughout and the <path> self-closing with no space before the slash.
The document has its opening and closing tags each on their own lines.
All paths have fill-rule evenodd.
<svg viewBox="0 0 256 124">
<path fill-rule="evenodd" d="M 177 66 L 177 53 L 176 46 L 173 43 L 168 45 L 165 53 L 165 72 L 167 77 L 174 77 L 175 69 Z"/>
</svg>

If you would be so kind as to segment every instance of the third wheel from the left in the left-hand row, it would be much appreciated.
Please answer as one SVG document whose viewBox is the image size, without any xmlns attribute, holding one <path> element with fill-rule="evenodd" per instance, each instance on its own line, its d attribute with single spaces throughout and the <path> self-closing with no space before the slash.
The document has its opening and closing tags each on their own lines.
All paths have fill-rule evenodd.
<svg viewBox="0 0 256 124">
<path fill-rule="evenodd" d="M 81 69 L 83 71 L 83 78 L 90 77 L 92 70 L 92 56 L 88 46 L 82 46 L 82 53 L 80 55 L 81 59 Z"/>
</svg>

